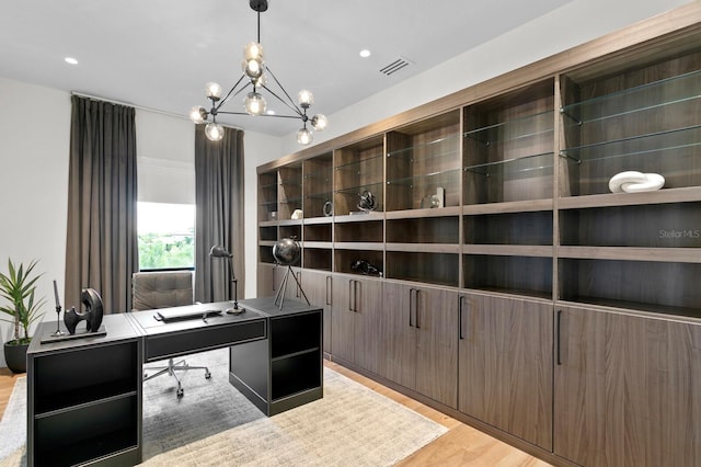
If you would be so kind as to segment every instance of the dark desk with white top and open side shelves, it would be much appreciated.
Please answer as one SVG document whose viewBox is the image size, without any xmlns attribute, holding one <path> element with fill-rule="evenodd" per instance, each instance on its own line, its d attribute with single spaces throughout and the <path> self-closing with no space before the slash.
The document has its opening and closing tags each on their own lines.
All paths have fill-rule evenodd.
<svg viewBox="0 0 701 467">
<path fill-rule="evenodd" d="M 322 310 L 273 298 L 243 315 L 161 322 L 154 311 L 105 316 L 107 334 L 27 351 L 27 465 L 141 462 L 142 363 L 230 348 L 229 380 L 271 415 L 323 397 Z M 226 309 L 229 303 L 192 309 Z M 82 327 L 81 327 L 82 328 Z M 35 335 L 51 333 L 43 322 Z M 193 395 L 195 396 L 195 395 Z"/>
</svg>

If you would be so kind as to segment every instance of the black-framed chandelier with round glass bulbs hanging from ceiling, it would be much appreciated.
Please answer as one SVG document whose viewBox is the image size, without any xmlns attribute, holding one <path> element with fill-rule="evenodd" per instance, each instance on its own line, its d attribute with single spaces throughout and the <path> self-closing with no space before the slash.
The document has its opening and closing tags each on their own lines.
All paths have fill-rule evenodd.
<svg viewBox="0 0 701 467">
<path fill-rule="evenodd" d="M 273 116 L 279 118 L 299 118 L 302 121 L 302 127 L 297 132 L 297 143 L 300 145 L 309 145 L 312 139 L 311 129 L 307 128 L 309 123 L 311 127 L 318 132 L 323 130 L 326 127 L 326 117 L 322 114 L 314 116 L 308 116 L 307 111 L 314 102 L 314 96 L 310 91 L 301 90 L 297 94 L 297 102 L 290 98 L 289 93 L 283 88 L 283 84 L 277 80 L 271 68 L 265 64 L 263 55 L 263 46 L 261 45 L 261 13 L 267 10 L 267 0 L 250 0 L 249 4 L 251 9 L 257 12 L 258 27 L 257 27 L 257 42 L 252 42 L 245 45 L 243 48 L 243 61 L 241 68 L 243 75 L 229 90 L 227 95 L 221 98 L 221 87 L 216 82 L 208 82 L 205 84 L 205 95 L 209 99 L 211 109 L 207 110 L 202 105 L 194 106 L 189 112 L 189 118 L 195 124 L 203 124 L 207 122 L 205 126 L 205 135 L 212 141 L 218 141 L 223 137 L 223 128 L 217 123 L 217 115 L 252 115 L 252 116 Z M 274 83 L 279 91 L 271 89 L 268 84 L 268 77 L 273 79 Z M 230 99 L 235 98 L 243 91 L 249 90 L 243 98 L 243 109 L 245 112 L 225 112 L 221 106 L 226 104 Z M 274 114 L 267 113 L 267 102 L 261 94 L 261 90 L 267 91 L 272 96 L 281 102 L 290 112 L 290 114 Z M 281 94 L 281 95 L 280 95 Z M 211 122 L 209 116 L 211 115 Z"/>
</svg>

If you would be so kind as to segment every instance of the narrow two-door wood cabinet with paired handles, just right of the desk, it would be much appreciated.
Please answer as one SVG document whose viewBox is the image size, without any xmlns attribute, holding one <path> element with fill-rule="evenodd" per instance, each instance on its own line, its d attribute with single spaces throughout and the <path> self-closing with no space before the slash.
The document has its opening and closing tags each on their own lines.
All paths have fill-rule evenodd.
<svg viewBox="0 0 701 467">
<path fill-rule="evenodd" d="M 378 373 L 382 282 L 336 274 L 333 277 L 331 343 L 334 356 Z"/>
</svg>

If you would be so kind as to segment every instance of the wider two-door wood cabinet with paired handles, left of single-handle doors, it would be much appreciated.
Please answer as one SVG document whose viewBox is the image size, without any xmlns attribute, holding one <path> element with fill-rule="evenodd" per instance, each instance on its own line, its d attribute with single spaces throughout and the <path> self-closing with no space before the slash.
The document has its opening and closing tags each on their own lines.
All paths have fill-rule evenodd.
<svg viewBox="0 0 701 467">
<path fill-rule="evenodd" d="M 387 282 L 379 373 L 457 408 L 458 293 Z"/>
</svg>

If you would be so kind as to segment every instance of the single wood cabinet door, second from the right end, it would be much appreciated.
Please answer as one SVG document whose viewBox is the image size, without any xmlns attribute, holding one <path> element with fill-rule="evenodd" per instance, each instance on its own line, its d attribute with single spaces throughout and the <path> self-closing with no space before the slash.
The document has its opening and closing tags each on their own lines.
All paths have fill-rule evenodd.
<svg viewBox="0 0 701 467">
<path fill-rule="evenodd" d="M 552 448 L 552 305 L 466 295 L 459 410 Z"/>
</svg>

